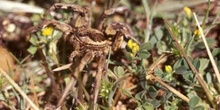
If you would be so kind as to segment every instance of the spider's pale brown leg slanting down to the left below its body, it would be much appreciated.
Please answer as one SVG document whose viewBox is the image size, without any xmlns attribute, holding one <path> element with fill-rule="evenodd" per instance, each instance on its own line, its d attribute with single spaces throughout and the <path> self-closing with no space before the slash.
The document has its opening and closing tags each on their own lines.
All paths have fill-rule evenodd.
<svg viewBox="0 0 220 110">
<path fill-rule="evenodd" d="M 64 99 L 66 98 L 66 96 L 68 95 L 68 92 L 70 91 L 70 89 L 73 87 L 74 84 L 74 79 L 78 79 L 80 72 L 83 70 L 83 68 L 86 66 L 86 64 L 88 64 L 91 60 L 93 60 L 94 58 L 94 53 L 92 51 L 87 52 L 83 58 L 80 61 L 80 64 L 75 68 L 74 70 L 74 77 L 75 78 L 71 78 L 70 82 L 68 83 L 68 85 L 66 86 L 66 88 L 64 89 L 64 92 L 57 104 L 57 106 L 61 106 Z"/>
</svg>

